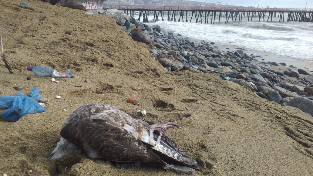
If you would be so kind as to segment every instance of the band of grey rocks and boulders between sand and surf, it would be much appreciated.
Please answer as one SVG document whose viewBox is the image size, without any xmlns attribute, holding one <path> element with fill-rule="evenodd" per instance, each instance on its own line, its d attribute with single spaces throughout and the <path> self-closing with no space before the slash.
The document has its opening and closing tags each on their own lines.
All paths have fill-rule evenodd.
<svg viewBox="0 0 313 176">
<path fill-rule="evenodd" d="M 254 54 L 244 49 L 221 51 L 214 42 L 191 41 L 188 37 L 162 31 L 159 25 L 148 26 L 126 14 L 110 10 L 111 16 L 121 29 L 130 33 L 140 28 L 152 39 L 150 52 L 168 71 L 190 70 L 194 73 L 209 73 L 232 81 L 254 91 L 258 96 L 275 101 L 282 106 L 296 107 L 313 116 L 313 74 L 290 65 L 287 70 L 274 70 L 272 66 L 286 67 L 285 63 L 263 62 L 261 66 Z M 124 19 L 123 19 L 124 17 Z M 127 22 L 126 22 L 127 21 Z M 290 79 L 291 78 L 291 79 Z M 295 80 L 296 79 L 296 80 Z"/>
</svg>

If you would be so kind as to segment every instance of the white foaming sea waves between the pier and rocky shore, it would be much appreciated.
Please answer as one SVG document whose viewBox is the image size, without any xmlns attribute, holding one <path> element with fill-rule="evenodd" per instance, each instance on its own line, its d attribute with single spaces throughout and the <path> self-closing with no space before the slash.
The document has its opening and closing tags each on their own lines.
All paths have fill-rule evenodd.
<svg viewBox="0 0 313 176">
<path fill-rule="evenodd" d="M 273 22 L 257 22 L 258 17 L 254 17 L 253 22 L 248 22 L 248 18 L 243 18 L 241 22 L 238 22 L 238 19 L 237 22 L 230 22 L 230 18 L 227 24 L 222 17 L 221 22 L 215 24 L 211 24 L 211 17 L 209 17 L 209 24 L 204 24 L 204 17 L 202 24 L 195 23 L 194 20 L 192 23 L 168 22 L 167 17 L 165 21 L 153 22 L 153 15 L 148 19 L 152 22 L 147 23 L 148 25 L 159 24 L 167 32 L 196 40 L 218 42 L 287 58 L 313 61 L 313 23 L 278 22 L 278 17 L 273 17 L 273 20 L 277 20 Z M 190 16 L 188 16 L 189 20 Z M 215 21 L 218 21 L 218 17 L 215 17 Z"/>
</svg>

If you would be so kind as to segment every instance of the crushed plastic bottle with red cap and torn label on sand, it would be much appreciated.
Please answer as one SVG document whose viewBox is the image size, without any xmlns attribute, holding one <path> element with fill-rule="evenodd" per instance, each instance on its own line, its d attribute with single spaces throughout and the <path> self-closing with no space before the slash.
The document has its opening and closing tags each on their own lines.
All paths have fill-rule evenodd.
<svg viewBox="0 0 313 176">
<path fill-rule="evenodd" d="M 27 70 L 32 71 L 34 74 L 40 77 L 53 77 L 53 78 L 71 78 L 71 71 L 65 70 L 64 73 L 59 73 L 57 70 L 48 66 L 32 66 L 27 65 Z"/>
</svg>

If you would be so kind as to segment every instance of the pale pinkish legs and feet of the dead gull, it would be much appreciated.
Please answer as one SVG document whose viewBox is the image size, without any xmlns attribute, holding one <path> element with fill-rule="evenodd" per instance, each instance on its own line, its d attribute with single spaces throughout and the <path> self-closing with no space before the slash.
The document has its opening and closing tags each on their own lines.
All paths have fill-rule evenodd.
<svg viewBox="0 0 313 176">
<path fill-rule="evenodd" d="M 174 127 L 178 127 L 178 125 L 176 123 L 172 123 L 172 122 L 167 122 L 163 125 L 158 125 L 158 124 L 150 125 L 150 130 L 149 130 L 150 131 L 150 144 L 153 146 L 155 146 L 156 144 L 159 144 L 161 137 L 162 137 L 162 133 L 166 132 L 167 129 L 174 128 Z M 153 138 L 153 132 L 154 131 L 160 132 L 160 135 L 158 136 L 156 141 Z"/>
</svg>

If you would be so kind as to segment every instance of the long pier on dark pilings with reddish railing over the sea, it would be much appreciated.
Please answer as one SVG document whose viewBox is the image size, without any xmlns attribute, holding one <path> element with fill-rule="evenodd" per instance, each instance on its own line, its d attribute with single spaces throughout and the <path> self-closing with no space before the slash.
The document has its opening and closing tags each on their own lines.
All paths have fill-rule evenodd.
<svg viewBox="0 0 313 176">
<path fill-rule="evenodd" d="M 148 22 L 148 16 L 153 15 L 153 20 L 158 21 L 167 18 L 167 21 L 215 23 L 221 22 L 221 17 L 227 24 L 229 21 L 273 21 L 278 17 L 279 22 L 297 21 L 313 22 L 313 9 L 286 9 L 286 8 L 244 8 L 244 7 L 181 7 L 181 6 L 137 6 L 137 5 L 105 5 L 104 9 L 118 9 L 134 16 L 138 14 L 138 20 Z"/>
</svg>

